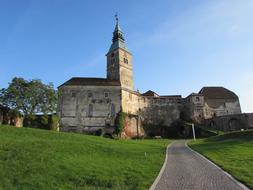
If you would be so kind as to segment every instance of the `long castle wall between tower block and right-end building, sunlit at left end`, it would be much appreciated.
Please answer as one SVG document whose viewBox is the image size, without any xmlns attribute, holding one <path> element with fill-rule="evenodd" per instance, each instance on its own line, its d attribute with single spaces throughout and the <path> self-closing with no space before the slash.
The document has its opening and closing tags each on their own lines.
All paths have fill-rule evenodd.
<svg viewBox="0 0 253 190">
<path fill-rule="evenodd" d="M 181 102 L 172 97 L 142 96 L 122 90 L 122 110 L 141 116 L 142 124 L 170 126 L 180 119 Z"/>
</svg>

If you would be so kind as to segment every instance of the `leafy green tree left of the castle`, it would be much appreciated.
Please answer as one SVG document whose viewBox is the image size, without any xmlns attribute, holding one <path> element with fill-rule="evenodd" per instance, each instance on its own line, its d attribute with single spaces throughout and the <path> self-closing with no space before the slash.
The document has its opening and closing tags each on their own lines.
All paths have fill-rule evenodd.
<svg viewBox="0 0 253 190">
<path fill-rule="evenodd" d="M 57 92 L 52 83 L 46 85 L 38 79 L 15 77 L 7 89 L 0 90 L 0 104 L 20 111 L 25 117 L 52 113 L 56 111 Z"/>
</svg>

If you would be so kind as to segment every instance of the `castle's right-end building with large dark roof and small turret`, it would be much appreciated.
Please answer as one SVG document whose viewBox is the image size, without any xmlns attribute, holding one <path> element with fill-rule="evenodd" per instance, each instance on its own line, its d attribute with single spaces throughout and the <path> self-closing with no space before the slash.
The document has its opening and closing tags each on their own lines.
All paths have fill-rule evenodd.
<svg viewBox="0 0 253 190">
<path fill-rule="evenodd" d="M 203 87 L 185 98 L 187 116 L 201 122 L 213 117 L 241 114 L 238 96 L 224 87 Z"/>
</svg>

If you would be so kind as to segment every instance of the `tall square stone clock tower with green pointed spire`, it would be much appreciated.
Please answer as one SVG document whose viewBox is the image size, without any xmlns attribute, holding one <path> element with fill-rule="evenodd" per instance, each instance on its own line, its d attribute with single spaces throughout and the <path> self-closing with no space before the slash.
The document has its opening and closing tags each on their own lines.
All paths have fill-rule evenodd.
<svg viewBox="0 0 253 190">
<path fill-rule="evenodd" d="M 107 56 L 107 78 L 119 80 L 122 88 L 134 90 L 132 54 L 128 51 L 116 17 L 112 45 Z"/>
</svg>

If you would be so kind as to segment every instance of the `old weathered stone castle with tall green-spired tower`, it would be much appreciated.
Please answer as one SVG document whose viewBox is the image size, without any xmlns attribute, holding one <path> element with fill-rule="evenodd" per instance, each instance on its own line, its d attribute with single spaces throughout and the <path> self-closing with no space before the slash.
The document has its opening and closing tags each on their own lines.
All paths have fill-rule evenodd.
<svg viewBox="0 0 253 190">
<path fill-rule="evenodd" d="M 62 131 L 108 133 L 115 130 L 119 112 L 127 114 L 122 135 L 145 135 L 142 125 L 170 126 L 180 119 L 202 122 L 241 114 L 238 96 L 223 87 L 203 87 L 198 93 L 161 96 L 134 90 L 132 54 L 126 47 L 118 19 L 106 54 L 106 78 L 74 77 L 58 87 L 58 115 Z"/>
</svg>

